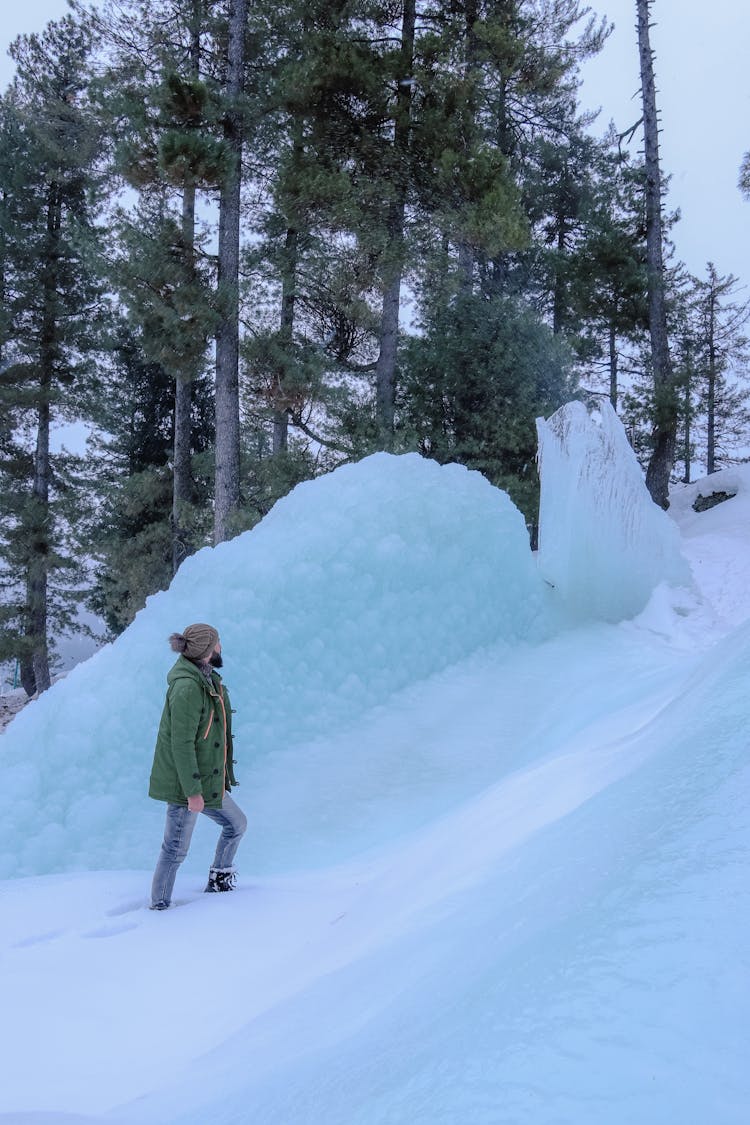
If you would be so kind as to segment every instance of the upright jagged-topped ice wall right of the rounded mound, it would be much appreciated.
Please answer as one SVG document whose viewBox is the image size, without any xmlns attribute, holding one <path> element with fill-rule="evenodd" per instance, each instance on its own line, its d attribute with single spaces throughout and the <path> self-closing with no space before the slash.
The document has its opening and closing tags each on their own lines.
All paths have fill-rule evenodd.
<svg viewBox="0 0 750 1125">
<path fill-rule="evenodd" d="M 576 620 L 622 621 L 662 582 L 686 585 L 674 522 L 651 500 L 608 402 L 539 418 L 539 567 Z"/>
</svg>

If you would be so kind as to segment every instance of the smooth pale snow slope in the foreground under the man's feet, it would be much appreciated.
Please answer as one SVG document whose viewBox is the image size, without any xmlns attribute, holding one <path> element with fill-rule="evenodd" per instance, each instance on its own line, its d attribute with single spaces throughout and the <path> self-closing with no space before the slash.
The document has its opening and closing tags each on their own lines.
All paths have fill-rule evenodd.
<svg viewBox="0 0 750 1125">
<path fill-rule="evenodd" d="M 9 884 L 8 1109 L 111 1125 L 746 1125 L 750 628 L 698 667 L 679 660 L 658 701 L 626 669 L 630 706 L 591 721 L 591 700 L 611 702 L 602 640 L 622 655 L 633 632 L 569 630 L 554 662 L 540 646 L 509 684 L 500 659 L 504 693 L 477 681 L 442 740 L 460 753 L 477 714 L 503 729 L 507 692 L 543 712 L 552 752 L 499 764 L 484 792 L 367 858 L 243 879 L 222 901 L 181 878 L 184 908 L 164 916 L 143 908 L 138 873 Z M 641 640 L 644 663 L 658 656 Z M 553 700 L 555 667 L 591 698 Z M 413 729 L 444 693 L 432 686 Z M 227 935 L 232 987 L 196 1018 L 170 981 Z M 191 1086 L 197 1073 L 210 1081 Z"/>
</svg>

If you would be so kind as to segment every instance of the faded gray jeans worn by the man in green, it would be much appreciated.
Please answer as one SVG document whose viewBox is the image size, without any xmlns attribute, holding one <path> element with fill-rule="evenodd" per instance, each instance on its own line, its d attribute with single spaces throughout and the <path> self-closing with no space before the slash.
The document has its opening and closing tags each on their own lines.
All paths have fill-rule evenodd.
<svg viewBox="0 0 750 1125">
<path fill-rule="evenodd" d="M 159 853 L 154 880 L 151 884 L 151 904 L 168 907 L 172 901 L 172 888 L 178 867 L 188 854 L 192 830 L 200 812 L 190 812 L 187 804 L 166 806 L 164 840 Z M 210 817 L 222 826 L 222 835 L 216 845 L 213 867 L 231 867 L 240 840 L 245 834 L 247 818 L 228 793 L 224 794 L 220 809 L 204 809 L 202 816 Z"/>
</svg>

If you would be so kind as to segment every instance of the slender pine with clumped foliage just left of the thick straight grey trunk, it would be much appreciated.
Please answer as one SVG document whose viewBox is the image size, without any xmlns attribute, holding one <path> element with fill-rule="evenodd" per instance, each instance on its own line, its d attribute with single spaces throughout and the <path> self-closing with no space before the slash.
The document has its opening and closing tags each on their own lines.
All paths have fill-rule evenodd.
<svg viewBox="0 0 750 1125">
<path fill-rule="evenodd" d="M 227 169 L 216 120 L 211 7 L 209 0 L 129 0 L 105 4 L 98 17 L 109 63 L 101 112 L 116 138 L 115 170 L 141 196 L 116 224 L 124 250 L 116 282 L 143 330 L 143 346 L 174 380 L 173 573 L 200 546 L 187 526 L 195 500 L 191 400 L 217 323 L 196 219 L 199 191 L 214 188 Z"/>
</svg>

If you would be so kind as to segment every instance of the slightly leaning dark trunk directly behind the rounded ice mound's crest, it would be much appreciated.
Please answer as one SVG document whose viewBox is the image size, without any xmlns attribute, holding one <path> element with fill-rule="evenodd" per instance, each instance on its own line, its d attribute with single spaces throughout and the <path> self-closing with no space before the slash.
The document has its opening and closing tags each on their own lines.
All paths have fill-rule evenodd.
<svg viewBox="0 0 750 1125">
<path fill-rule="evenodd" d="M 412 70 L 414 68 L 415 25 L 416 0 L 404 0 L 400 78 L 396 96 L 396 124 L 394 128 L 397 183 L 388 215 L 388 249 L 386 251 L 386 277 L 382 288 L 382 309 L 380 314 L 380 351 L 376 364 L 376 406 L 380 446 L 382 449 L 394 448 L 396 358 L 398 353 L 398 322 L 401 304 L 401 278 L 404 273 L 406 195 L 409 179 Z"/>
</svg>

